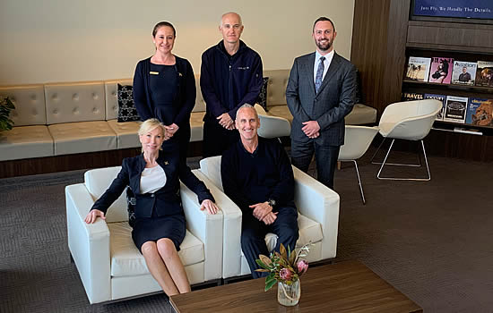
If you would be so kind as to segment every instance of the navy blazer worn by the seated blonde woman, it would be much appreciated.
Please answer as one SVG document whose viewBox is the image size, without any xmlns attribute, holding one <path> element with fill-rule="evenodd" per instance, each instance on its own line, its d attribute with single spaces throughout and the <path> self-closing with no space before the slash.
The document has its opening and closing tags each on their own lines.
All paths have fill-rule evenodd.
<svg viewBox="0 0 493 313">
<path fill-rule="evenodd" d="M 108 190 L 94 203 L 91 210 L 98 209 L 106 214 L 108 207 L 122 194 L 126 186 L 134 192 L 135 217 L 151 217 L 152 209 L 156 210 L 157 216 L 170 216 L 183 214 L 179 194 L 180 180 L 190 190 L 194 191 L 200 203 L 204 199 L 214 201 L 211 192 L 203 182 L 195 177 L 190 167 L 179 162 L 177 152 L 166 153 L 160 151 L 158 164 L 166 173 L 166 184 L 154 193 L 141 193 L 141 174 L 145 168 L 143 154 L 137 157 L 127 157 L 123 161 L 122 169 Z"/>
</svg>

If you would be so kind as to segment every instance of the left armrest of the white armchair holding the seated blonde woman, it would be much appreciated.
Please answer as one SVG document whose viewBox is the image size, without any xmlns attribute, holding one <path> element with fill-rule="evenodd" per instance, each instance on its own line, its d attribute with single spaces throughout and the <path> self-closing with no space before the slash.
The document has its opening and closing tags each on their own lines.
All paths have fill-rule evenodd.
<svg viewBox="0 0 493 313">
<path fill-rule="evenodd" d="M 65 187 L 68 248 L 91 303 L 111 300 L 109 230 L 100 218 L 84 222 L 94 200 L 83 183 Z"/>
</svg>

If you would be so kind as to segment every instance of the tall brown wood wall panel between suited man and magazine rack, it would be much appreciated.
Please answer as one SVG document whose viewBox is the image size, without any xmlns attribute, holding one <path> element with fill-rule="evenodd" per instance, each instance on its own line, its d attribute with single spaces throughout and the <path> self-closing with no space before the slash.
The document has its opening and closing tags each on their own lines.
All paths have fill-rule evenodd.
<svg viewBox="0 0 493 313">
<path fill-rule="evenodd" d="M 378 116 L 401 99 L 411 0 L 356 0 L 351 62 L 361 77 L 364 103 Z"/>
</svg>

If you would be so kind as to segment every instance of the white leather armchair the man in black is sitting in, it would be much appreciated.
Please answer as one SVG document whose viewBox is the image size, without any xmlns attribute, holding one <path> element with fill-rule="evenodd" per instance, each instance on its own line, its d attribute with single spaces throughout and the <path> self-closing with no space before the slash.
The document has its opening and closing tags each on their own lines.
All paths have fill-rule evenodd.
<svg viewBox="0 0 493 313">
<path fill-rule="evenodd" d="M 309 262 L 335 258 L 339 225 L 339 195 L 294 166 L 293 172 L 295 178 L 294 199 L 298 207 L 299 239 L 297 247 L 309 241 L 314 243 L 314 247 L 312 247 L 308 255 L 307 260 Z M 218 190 L 223 190 L 221 157 L 207 157 L 201 160 L 200 170 L 195 170 L 195 174 L 199 179 L 203 179 L 201 173 Z M 247 275 L 250 273 L 250 268 L 247 264 L 247 259 L 243 256 L 240 244 L 241 210 L 239 207 L 229 207 L 228 211 L 223 211 L 223 215 L 223 244 L 225 252 L 222 278 L 227 279 L 238 275 Z M 235 224 L 227 226 L 231 218 L 235 221 Z M 268 233 L 265 236 L 265 241 L 268 249 L 272 250 L 277 241 L 277 236 L 273 233 Z M 228 253 L 226 252 L 226 247 L 229 247 Z M 228 272 L 224 271 L 226 268 Z"/>
</svg>

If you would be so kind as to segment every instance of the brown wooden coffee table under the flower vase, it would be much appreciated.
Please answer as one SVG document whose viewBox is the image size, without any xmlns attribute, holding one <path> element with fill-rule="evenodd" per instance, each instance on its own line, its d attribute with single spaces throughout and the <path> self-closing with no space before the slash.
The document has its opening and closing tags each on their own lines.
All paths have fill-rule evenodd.
<svg viewBox="0 0 493 313">
<path fill-rule="evenodd" d="M 186 312 L 422 312 L 423 309 L 358 261 L 308 268 L 295 307 L 277 302 L 277 285 L 264 292 L 264 278 L 170 297 Z"/>
</svg>

